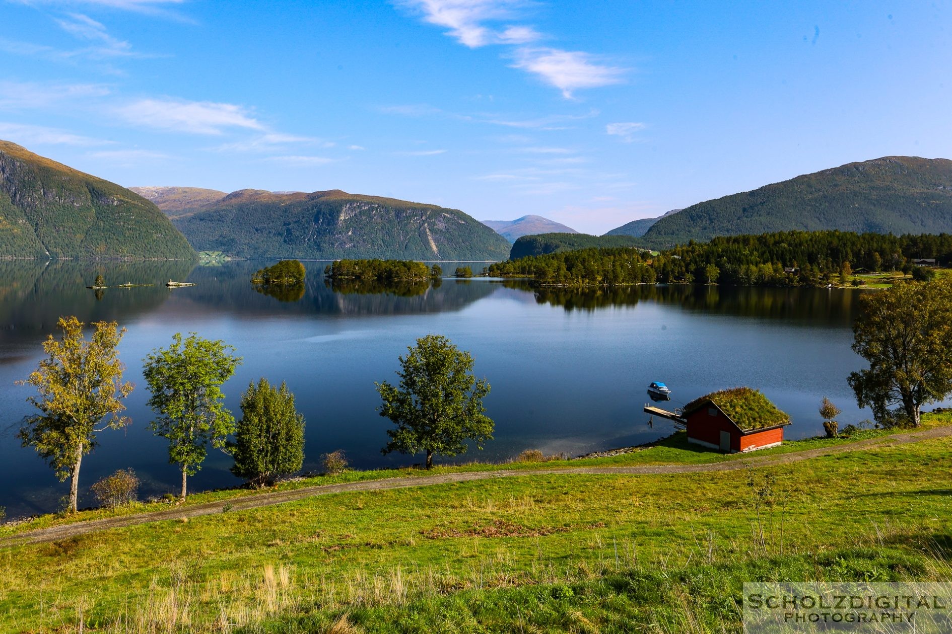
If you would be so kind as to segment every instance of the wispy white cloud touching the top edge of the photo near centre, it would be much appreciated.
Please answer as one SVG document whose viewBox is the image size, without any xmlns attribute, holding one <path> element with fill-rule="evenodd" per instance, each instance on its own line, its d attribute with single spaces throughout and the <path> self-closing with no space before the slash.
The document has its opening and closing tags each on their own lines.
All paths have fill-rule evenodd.
<svg viewBox="0 0 952 634">
<path fill-rule="evenodd" d="M 525 25 L 486 26 L 515 17 L 518 0 L 403 0 L 400 4 L 423 14 L 429 24 L 449 29 L 446 34 L 469 48 L 489 44 L 526 44 L 541 35 Z"/>
</svg>

